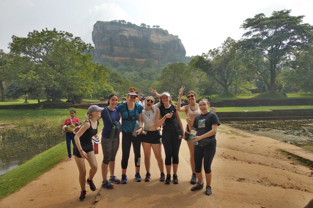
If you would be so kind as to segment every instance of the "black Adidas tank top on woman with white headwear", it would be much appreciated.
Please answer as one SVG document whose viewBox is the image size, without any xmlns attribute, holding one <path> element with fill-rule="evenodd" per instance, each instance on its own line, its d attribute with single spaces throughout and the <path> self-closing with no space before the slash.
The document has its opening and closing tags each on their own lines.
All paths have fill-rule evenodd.
<svg viewBox="0 0 313 208">
<path fill-rule="evenodd" d="M 170 112 L 173 114 L 172 118 L 165 119 L 165 125 L 163 125 L 162 131 L 177 132 L 177 130 L 180 130 L 178 121 L 176 119 L 176 108 L 173 105 L 171 105 L 169 108 L 165 108 L 164 105 L 161 105 L 159 110 L 162 117 Z"/>
</svg>

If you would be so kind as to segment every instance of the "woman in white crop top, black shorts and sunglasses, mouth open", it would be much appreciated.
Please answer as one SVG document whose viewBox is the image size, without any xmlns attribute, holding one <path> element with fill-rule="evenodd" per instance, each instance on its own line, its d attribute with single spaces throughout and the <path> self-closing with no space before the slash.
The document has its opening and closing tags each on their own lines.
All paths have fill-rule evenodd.
<svg viewBox="0 0 313 208">
<path fill-rule="evenodd" d="M 161 95 L 156 92 L 156 90 L 150 90 L 156 97 L 161 99 Z M 146 167 L 146 178 L 145 181 L 151 179 L 150 174 L 150 157 L 151 157 L 151 148 L 153 150 L 154 156 L 156 157 L 157 164 L 159 166 L 161 176 L 160 181 L 165 181 L 164 174 L 164 164 L 162 159 L 162 146 L 160 143 L 161 134 L 159 128 L 156 127 L 156 109 L 159 107 L 160 102 L 154 104 L 154 98 L 148 96 L 145 99 L 146 108 L 142 110 L 142 120 L 147 125 L 147 129 L 142 131 L 141 144 L 143 152 L 145 154 L 145 167 Z"/>
</svg>

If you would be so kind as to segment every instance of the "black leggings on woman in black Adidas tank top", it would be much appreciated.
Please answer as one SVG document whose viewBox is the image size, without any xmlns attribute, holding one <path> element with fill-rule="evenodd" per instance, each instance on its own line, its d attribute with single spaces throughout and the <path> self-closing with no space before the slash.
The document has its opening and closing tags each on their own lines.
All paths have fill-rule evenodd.
<svg viewBox="0 0 313 208">
<path fill-rule="evenodd" d="M 182 139 L 178 139 L 177 132 L 163 132 L 162 142 L 165 151 L 165 165 L 178 164 L 178 153 Z"/>
</svg>

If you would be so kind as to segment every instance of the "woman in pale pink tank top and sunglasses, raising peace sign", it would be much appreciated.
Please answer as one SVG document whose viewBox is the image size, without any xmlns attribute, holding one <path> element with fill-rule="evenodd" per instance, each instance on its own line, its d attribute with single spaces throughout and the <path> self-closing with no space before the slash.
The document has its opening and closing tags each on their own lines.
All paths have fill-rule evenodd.
<svg viewBox="0 0 313 208">
<path fill-rule="evenodd" d="M 181 112 L 185 112 L 186 115 L 189 114 L 191 123 L 193 124 L 194 119 L 196 116 L 201 114 L 201 111 L 199 109 L 198 103 L 196 103 L 196 98 L 197 94 L 194 91 L 189 91 L 186 94 L 187 100 L 189 102 L 188 105 L 181 106 L 181 100 L 182 100 L 182 94 L 184 92 L 185 87 L 182 86 L 182 88 L 179 89 L 179 97 L 177 101 L 177 106 L 176 109 Z M 192 127 L 191 127 L 192 128 Z M 194 144 L 192 142 L 188 141 L 190 131 L 188 129 L 188 125 L 186 126 L 185 129 L 185 140 L 187 142 L 188 148 L 189 148 L 189 153 L 190 153 L 190 166 L 191 166 L 191 171 L 192 171 L 192 177 L 190 180 L 190 183 L 196 184 L 197 183 L 197 176 L 195 172 L 195 161 L 193 157 L 194 153 Z"/>
</svg>

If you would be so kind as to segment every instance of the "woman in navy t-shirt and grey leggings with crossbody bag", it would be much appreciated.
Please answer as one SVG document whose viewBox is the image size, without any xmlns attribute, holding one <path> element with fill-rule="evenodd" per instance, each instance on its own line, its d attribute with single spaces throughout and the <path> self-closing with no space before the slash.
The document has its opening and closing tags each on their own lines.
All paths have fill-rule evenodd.
<svg viewBox="0 0 313 208">
<path fill-rule="evenodd" d="M 101 146 L 103 152 L 103 161 L 101 164 L 102 185 L 106 189 L 111 189 L 114 186 L 111 183 L 120 183 L 114 175 L 115 156 L 120 146 L 121 116 L 117 112 L 118 95 L 110 94 L 108 106 L 101 111 L 103 120 L 103 129 L 101 134 Z M 119 131 L 120 130 L 120 131 Z M 107 180 L 108 167 L 110 169 L 110 178 Z"/>
</svg>

